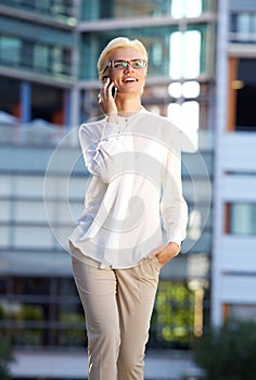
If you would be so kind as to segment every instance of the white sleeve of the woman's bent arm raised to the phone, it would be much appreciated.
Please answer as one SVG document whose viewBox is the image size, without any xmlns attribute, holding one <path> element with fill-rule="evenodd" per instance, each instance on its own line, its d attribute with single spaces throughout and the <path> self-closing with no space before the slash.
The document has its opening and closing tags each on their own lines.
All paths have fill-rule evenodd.
<svg viewBox="0 0 256 380">
<path fill-rule="evenodd" d="M 87 169 L 105 183 L 124 170 L 124 153 L 132 150 L 131 138 L 113 123 L 81 125 L 79 140 Z"/>
</svg>

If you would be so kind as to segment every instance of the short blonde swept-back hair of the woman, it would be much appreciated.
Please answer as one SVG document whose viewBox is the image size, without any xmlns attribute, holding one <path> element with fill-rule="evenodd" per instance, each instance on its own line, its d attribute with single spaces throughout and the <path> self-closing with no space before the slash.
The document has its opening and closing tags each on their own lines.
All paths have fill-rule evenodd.
<svg viewBox="0 0 256 380">
<path fill-rule="evenodd" d="M 105 75 L 105 67 L 106 67 L 106 63 L 110 54 L 114 50 L 121 49 L 121 48 L 131 48 L 137 50 L 141 54 L 141 56 L 148 62 L 148 53 L 146 53 L 145 47 L 140 40 L 129 39 L 127 37 L 114 38 L 103 49 L 98 61 L 98 73 L 99 73 L 100 81 L 103 81 L 103 78 Z"/>
</svg>

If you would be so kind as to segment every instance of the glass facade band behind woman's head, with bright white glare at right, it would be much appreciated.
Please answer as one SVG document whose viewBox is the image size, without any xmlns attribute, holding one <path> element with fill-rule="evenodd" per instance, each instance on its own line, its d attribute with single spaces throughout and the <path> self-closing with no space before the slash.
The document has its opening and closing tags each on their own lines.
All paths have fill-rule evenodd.
<svg viewBox="0 0 256 380">
<path fill-rule="evenodd" d="M 185 31 L 179 31 L 178 25 L 169 25 L 118 29 L 118 36 L 139 38 L 144 43 L 149 53 L 149 76 L 175 80 L 213 75 L 213 67 L 206 64 L 210 54 L 206 46 L 212 27 L 188 24 L 187 28 Z M 103 47 L 115 37 L 116 30 L 82 35 L 80 79 L 98 77 L 98 56 Z"/>
</svg>

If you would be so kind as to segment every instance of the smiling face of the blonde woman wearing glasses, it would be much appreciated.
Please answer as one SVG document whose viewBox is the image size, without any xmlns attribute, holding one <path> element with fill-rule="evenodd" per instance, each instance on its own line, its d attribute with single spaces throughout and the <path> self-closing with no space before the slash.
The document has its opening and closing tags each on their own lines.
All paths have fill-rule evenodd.
<svg viewBox="0 0 256 380">
<path fill-rule="evenodd" d="M 136 59 L 144 58 L 135 49 L 118 48 L 111 52 L 108 60 L 125 60 L 131 62 Z M 117 93 L 139 93 L 143 92 L 145 85 L 146 67 L 132 67 L 128 64 L 126 67 L 110 68 L 110 77 L 117 87 Z"/>
</svg>

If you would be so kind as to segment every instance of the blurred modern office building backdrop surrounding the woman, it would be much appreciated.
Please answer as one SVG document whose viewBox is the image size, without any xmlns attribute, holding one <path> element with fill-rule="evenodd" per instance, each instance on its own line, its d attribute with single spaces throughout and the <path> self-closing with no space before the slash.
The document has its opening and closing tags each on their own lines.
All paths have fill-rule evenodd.
<svg viewBox="0 0 256 380">
<path fill-rule="evenodd" d="M 255 1 L 1 0 L 0 329 L 12 379 L 87 376 L 67 246 L 89 178 L 77 127 L 100 115 L 97 61 L 117 36 L 149 52 L 144 106 L 192 141 L 188 238 L 161 274 L 145 378 L 194 379 L 194 338 L 256 316 Z"/>
</svg>

